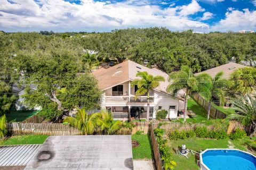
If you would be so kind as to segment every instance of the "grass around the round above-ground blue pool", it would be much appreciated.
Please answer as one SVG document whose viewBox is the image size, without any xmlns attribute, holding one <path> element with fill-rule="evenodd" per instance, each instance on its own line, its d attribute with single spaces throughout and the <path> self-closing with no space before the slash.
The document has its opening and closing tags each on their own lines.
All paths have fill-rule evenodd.
<svg viewBox="0 0 256 170">
<path fill-rule="evenodd" d="M 249 145 L 247 145 L 250 143 Z M 232 141 L 229 139 L 204 139 L 204 138 L 188 138 L 185 140 L 169 140 L 168 145 L 170 147 L 170 152 L 172 153 L 173 160 L 177 163 L 175 170 L 195 170 L 199 169 L 197 166 L 197 160 L 199 159 L 197 156 L 191 154 L 189 152 L 188 158 L 185 156 L 175 154 L 175 148 L 181 147 L 182 145 L 186 145 L 186 148 L 200 152 L 200 150 L 210 149 L 210 148 L 229 148 L 229 146 L 234 147 L 236 149 L 241 149 L 245 151 L 249 151 L 255 154 L 256 150 L 256 138 L 250 139 L 250 137 L 245 137 L 244 139 Z M 254 147 L 254 150 L 251 149 Z"/>
</svg>

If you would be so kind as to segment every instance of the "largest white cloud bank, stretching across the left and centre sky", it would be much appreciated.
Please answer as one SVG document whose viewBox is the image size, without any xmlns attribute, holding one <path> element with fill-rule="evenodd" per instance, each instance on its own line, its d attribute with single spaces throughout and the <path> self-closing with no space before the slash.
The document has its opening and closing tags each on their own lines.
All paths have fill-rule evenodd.
<svg viewBox="0 0 256 170">
<path fill-rule="evenodd" d="M 0 29 L 34 30 L 112 30 L 127 27 L 167 27 L 172 30 L 209 29 L 209 25 L 190 20 L 187 15 L 204 9 L 195 1 L 161 8 L 146 0 L 122 3 L 82 0 L 71 4 L 61 0 L 0 0 Z M 134 5 L 134 3 L 137 3 Z"/>
</svg>

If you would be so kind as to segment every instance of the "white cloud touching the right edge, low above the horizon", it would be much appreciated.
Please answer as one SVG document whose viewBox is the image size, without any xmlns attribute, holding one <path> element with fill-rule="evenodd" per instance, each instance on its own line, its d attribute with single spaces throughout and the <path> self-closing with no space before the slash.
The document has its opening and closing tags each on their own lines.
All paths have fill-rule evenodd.
<svg viewBox="0 0 256 170">
<path fill-rule="evenodd" d="M 256 11 L 244 9 L 243 11 L 235 10 L 234 8 L 226 12 L 226 18 L 222 19 L 213 27 L 214 30 L 234 30 L 241 29 L 255 30 L 256 29 Z"/>
</svg>

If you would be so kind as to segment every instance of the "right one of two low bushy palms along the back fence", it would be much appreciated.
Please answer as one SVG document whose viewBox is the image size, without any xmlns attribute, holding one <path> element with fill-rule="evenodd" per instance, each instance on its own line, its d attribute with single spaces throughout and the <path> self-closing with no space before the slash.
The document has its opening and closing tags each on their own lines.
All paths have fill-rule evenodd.
<svg viewBox="0 0 256 170">
<path fill-rule="evenodd" d="M 103 134 L 113 134 L 122 128 L 122 122 L 114 121 L 111 113 L 106 111 L 100 113 L 97 119 L 97 125 L 100 127 L 100 130 L 103 131 Z"/>
</svg>

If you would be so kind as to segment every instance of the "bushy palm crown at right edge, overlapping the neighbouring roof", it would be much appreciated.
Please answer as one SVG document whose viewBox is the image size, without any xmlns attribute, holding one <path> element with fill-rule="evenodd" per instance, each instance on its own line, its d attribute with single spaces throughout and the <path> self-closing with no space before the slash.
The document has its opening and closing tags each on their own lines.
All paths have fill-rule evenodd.
<svg viewBox="0 0 256 170">
<path fill-rule="evenodd" d="M 236 94 L 250 94 L 256 88 L 256 69 L 244 67 L 231 73 L 230 80 L 233 82 L 231 89 Z"/>
</svg>

